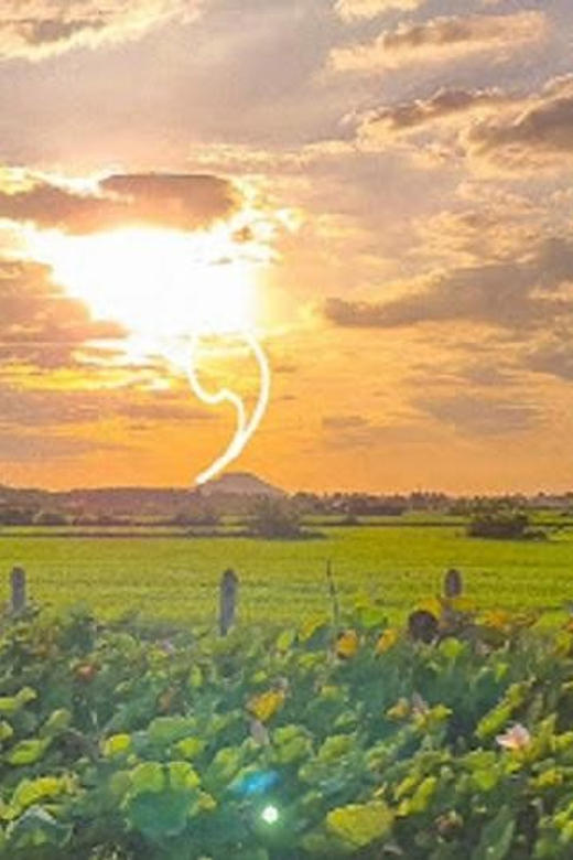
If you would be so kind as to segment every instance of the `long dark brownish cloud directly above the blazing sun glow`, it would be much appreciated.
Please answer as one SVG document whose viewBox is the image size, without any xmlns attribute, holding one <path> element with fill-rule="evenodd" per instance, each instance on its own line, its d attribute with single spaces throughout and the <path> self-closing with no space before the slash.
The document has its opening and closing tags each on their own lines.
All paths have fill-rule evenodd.
<svg viewBox="0 0 573 860">
<path fill-rule="evenodd" d="M 30 176 L 0 187 L 0 218 L 76 235 L 134 225 L 190 230 L 230 215 L 239 200 L 235 185 L 213 175 L 118 174 L 90 192 Z"/>
</svg>

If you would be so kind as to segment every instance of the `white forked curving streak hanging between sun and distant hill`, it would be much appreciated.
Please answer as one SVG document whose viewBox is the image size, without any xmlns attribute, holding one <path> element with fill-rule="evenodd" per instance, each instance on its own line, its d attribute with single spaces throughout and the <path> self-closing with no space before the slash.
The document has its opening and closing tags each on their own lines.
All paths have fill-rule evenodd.
<svg viewBox="0 0 573 860">
<path fill-rule="evenodd" d="M 207 481 L 210 481 L 219 472 L 223 472 L 223 470 L 226 469 L 229 463 L 231 463 L 234 460 L 237 460 L 237 458 L 241 455 L 245 447 L 248 444 L 249 440 L 262 421 L 269 405 L 271 393 L 271 370 L 269 359 L 267 358 L 262 346 L 253 334 L 250 332 L 241 332 L 240 336 L 252 351 L 259 368 L 259 395 L 250 417 L 247 415 L 244 399 L 235 391 L 231 391 L 229 388 L 221 388 L 220 390 L 213 394 L 203 387 L 197 376 L 196 364 L 199 337 L 195 336 L 192 338 L 187 364 L 187 378 L 193 394 L 206 406 L 220 406 L 220 404 L 230 404 L 237 415 L 237 429 L 235 431 L 234 438 L 231 439 L 225 453 L 217 458 L 217 460 L 215 460 L 215 462 L 212 463 L 208 469 L 206 469 L 195 479 L 195 483 L 199 486 L 207 483 Z"/>
</svg>

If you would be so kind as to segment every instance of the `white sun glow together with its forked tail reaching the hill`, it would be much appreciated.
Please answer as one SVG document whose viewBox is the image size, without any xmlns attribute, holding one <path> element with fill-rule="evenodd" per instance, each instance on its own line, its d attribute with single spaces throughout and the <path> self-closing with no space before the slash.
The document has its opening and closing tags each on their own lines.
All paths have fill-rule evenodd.
<svg viewBox="0 0 573 860">
<path fill-rule="evenodd" d="M 187 236 L 118 229 L 74 238 L 41 234 L 32 239 L 31 249 L 96 318 L 122 322 L 148 352 L 163 354 L 177 369 L 186 369 L 191 389 L 202 402 L 229 404 L 235 409 L 235 434 L 224 453 L 197 475 L 197 484 L 241 455 L 267 411 L 270 367 L 252 333 L 255 266 L 239 258 L 227 230 Z M 227 387 L 207 391 L 197 373 L 201 337 L 229 334 L 245 340 L 259 367 L 260 387 L 250 417 L 242 397 Z"/>
</svg>

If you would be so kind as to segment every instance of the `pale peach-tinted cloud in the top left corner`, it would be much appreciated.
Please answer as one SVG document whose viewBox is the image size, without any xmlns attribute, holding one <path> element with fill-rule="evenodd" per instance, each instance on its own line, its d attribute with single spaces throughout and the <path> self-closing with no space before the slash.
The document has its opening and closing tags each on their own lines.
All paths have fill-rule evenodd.
<svg viewBox="0 0 573 860">
<path fill-rule="evenodd" d="M 0 60 L 125 42 L 173 19 L 192 20 L 199 8 L 199 0 L 2 0 Z"/>
</svg>

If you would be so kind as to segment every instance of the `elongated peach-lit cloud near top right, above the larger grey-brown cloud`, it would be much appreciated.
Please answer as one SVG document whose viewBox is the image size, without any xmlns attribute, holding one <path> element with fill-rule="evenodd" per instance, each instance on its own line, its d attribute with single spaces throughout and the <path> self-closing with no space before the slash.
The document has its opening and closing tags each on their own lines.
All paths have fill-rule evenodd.
<svg viewBox="0 0 573 860">
<path fill-rule="evenodd" d="M 548 28 L 547 17 L 537 11 L 433 18 L 385 30 L 367 44 L 336 49 L 331 54 L 331 65 L 339 72 L 377 74 L 483 54 L 511 56 L 517 49 L 544 40 Z"/>
</svg>

